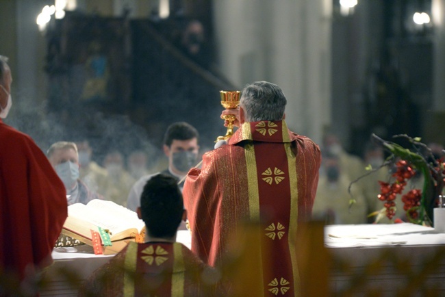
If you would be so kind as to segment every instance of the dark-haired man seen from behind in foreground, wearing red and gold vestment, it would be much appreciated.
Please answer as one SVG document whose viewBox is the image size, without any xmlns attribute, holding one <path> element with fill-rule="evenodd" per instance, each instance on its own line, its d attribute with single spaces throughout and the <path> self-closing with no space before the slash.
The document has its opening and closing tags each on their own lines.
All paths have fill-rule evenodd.
<svg viewBox="0 0 445 297">
<path fill-rule="evenodd" d="M 147 181 L 137 212 L 145 222 L 145 242 L 130 242 L 93 272 L 81 295 L 225 296 L 216 269 L 175 242 L 186 216 L 175 177 L 160 174 Z"/>
</svg>

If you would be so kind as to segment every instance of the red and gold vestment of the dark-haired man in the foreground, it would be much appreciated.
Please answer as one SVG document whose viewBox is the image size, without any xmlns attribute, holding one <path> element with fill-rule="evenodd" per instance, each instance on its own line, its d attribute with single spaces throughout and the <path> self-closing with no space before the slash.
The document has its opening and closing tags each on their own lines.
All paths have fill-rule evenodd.
<svg viewBox="0 0 445 297">
<path fill-rule="evenodd" d="M 206 266 L 183 244 L 130 242 L 112 260 L 93 272 L 81 295 L 86 296 L 224 296 L 216 270 Z"/>
</svg>

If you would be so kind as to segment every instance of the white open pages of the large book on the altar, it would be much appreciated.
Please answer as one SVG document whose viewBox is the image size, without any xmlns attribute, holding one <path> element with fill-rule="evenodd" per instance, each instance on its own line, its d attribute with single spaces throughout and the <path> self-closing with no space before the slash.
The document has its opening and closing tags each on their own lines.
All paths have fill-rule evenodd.
<svg viewBox="0 0 445 297">
<path fill-rule="evenodd" d="M 140 232 L 145 226 L 144 221 L 138 218 L 136 212 L 112 201 L 99 199 L 90 201 L 88 205 L 75 203 L 68 206 L 68 216 L 86 220 L 96 226 L 107 229 L 110 231 L 110 235 L 116 235 L 133 228 Z"/>
</svg>

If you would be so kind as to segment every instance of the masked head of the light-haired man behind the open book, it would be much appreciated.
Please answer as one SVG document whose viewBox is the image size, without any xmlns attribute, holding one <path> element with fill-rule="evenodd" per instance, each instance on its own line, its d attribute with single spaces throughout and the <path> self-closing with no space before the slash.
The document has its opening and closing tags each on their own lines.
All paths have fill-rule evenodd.
<svg viewBox="0 0 445 297">
<path fill-rule="evenodd" d="M 55 142 L 48 148 L 47 157 L 64 182 L 66 190 L 75 188 L 79 178 L 79 155 L 76 144 L 66 141 Z"/>
</svg>

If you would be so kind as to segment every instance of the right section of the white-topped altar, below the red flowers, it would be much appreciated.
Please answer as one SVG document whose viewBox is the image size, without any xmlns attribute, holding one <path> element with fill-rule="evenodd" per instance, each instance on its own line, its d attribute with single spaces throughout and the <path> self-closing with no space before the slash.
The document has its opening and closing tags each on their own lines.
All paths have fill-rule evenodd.
<svg viewBox="0 0 445 297">
<path fill-rule="evenodd" d="M 416 224 L 325 227 L 339 296 L 445 296 L 445 234 Z"/>
</svg>

